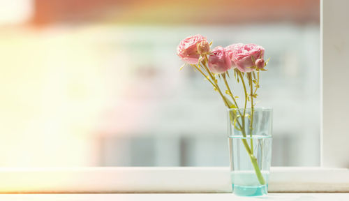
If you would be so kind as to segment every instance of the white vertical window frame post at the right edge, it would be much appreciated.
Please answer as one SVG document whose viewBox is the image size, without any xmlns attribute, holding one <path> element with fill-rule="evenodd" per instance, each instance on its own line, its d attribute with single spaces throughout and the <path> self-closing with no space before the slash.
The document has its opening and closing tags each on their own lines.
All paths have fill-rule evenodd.
<svg viewBox="0 0 349 201">
<path fill-rule="evenodd" d="M 346 117 L 349 93 L 343 84 L 349 73 L 346 61 L 349 26 L 342 26 L 348 24 L 349 14 L 344 12 L 348 6 L 348 1 L 320 1 L 321 167 L 349 167 L 349 146 L 343 139 L 348 136 L 346 124 L 349 122 Z"/>
</svg>

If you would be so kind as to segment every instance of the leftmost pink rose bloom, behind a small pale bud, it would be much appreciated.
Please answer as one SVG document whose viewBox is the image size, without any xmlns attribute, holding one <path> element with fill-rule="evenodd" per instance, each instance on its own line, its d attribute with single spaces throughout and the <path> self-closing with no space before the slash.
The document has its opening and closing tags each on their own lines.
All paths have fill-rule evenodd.
<svg viewBox="0 0 349 201">
<path fill-rule="evenodd" d="M 177 55 L 188 64 L 198 64 L 200 57 L 198 44 L 202 41 L 207 42 L 207 39 L 201 35 L 189 36 L 181 40 L 177 47 Z"/>
</svg>

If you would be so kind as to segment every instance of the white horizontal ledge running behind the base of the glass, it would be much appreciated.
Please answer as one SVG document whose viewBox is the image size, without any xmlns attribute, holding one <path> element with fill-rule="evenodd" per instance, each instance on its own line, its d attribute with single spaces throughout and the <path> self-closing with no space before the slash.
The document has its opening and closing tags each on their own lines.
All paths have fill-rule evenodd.
<svg viewBox="0 0 349 201">
<path fill-rule="evenodd" d="M 230 193 L 228 168 L 0 168 L 0 193 Z M 269 192 L 349 192 L 349 170 L 272 168 Z"/>
</svg>

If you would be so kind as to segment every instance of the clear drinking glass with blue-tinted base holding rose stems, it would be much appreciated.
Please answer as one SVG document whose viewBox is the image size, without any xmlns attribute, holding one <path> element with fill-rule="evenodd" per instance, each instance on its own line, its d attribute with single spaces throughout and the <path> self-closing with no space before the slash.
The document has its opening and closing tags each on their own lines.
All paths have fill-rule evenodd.
<svg viewBox="0 0 349 201">
<path fill-rule="evenodd" d="M 228 110 L 228 143 L 232 192 L 265 195 L 272 162 L 272 109 Z"/>
</svg>

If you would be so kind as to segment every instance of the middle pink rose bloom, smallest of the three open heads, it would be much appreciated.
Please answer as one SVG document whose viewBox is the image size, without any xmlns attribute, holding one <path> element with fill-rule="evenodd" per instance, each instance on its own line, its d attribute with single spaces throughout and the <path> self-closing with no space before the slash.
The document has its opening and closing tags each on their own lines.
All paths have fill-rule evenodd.
<svg viewBox="0 0 349 201">
<path fill-rule="evenodd" d="M 229 52 L 221 46 L 214 47 L 209 55 L 209 70 L 213 73 L 225 73 L 232 68 L 232 61 Z"/>
</svg>

